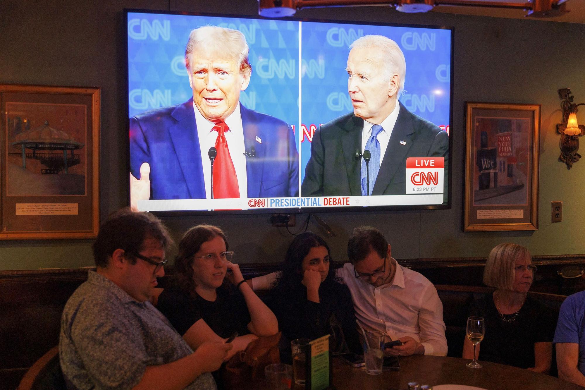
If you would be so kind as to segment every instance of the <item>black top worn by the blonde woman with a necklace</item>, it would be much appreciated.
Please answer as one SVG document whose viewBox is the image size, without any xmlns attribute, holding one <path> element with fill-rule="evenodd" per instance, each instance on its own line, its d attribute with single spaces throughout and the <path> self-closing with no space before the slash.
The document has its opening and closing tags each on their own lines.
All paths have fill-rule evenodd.
<svg viewBox="0 0 585 390">
<path fill-rule="evenodd" d="M 552 309 L 529 295 L 510 323 L 501 319 L 491 294 L 473 302 L 469 315 L 483 317 L 486 326 L 477 359 L 519 368 L 534 367 L 534 343 L 552 343 L 557 320 Z M 513 316 L 504 314 L 505 319 Z"/>
</svg>

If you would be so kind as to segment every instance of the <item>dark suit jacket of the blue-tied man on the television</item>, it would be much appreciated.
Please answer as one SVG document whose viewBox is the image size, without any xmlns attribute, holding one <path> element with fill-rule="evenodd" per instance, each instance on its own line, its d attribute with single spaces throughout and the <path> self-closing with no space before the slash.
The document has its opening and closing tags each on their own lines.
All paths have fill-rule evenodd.
<svg viewBox="0 0 585 390">
<path fill-rule="evenodd" d="M 449 135 L 438 126 L 409 112 L 402 103 L 388 148 L 382 159 L 372 195 L 406 193 L 406 159 L 444 157 L 449 172 Z M 302 196 L 360 196 L 363 119 L 353 113 L 321 125 L 311 142 L 311 159 L 305 167 Z M 406 142 L 402 145 L 400 141 Z M 447 193 L 445 180 L 445 194 Z"/>
</svg>

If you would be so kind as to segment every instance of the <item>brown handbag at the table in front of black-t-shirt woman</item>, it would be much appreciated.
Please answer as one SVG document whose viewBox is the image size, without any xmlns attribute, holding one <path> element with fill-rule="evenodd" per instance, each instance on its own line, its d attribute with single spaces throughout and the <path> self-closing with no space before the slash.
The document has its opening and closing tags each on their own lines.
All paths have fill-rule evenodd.
<svg viewBox="0 0 585 390">
<path fill-rule="evenodd" d="M 245 350 L 239 351 L 221 368 L 223 387 L 237 388 L 243 382 L 264 378 L 264 367 L 280 363 L 278 342 L 281 332 L 274 336 L 259 337 Z"/>
</svg>

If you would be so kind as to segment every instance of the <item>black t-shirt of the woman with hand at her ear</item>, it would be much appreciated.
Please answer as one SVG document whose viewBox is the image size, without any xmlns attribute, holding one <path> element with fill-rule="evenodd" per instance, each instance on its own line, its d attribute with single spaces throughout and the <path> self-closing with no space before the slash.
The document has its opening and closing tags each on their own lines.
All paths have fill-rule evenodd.
<svg viewBox="0 0 585 390">
<path fill-rule="evenodd" d="M 239 336 L 249 334 L 250 313 L 242 293 L 228 282 L 216 289 L 216 293 L 217 299 L 211 302 L 201 296 L 193 299 L 177 286 L 171 286 L 160 293 L 157 308 L 181 336 L 199 319 L 222 338 L 235 331 Z"/>
</svg>

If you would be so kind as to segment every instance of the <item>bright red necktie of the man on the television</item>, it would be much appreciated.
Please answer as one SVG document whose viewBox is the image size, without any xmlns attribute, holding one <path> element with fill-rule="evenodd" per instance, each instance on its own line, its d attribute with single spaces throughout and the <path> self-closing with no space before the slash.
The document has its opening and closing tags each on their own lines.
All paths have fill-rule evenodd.
<svg viewBox="0 0 585 390">
<path fill-rule="evenodd" d="M 238 186 L 238 176 L 236 169 L 233 167 L 232 157 L 229 155 L 228 141 L 224 133 L 229 130 L 225 122 L 215 124 L 212 131 L 218 132 L 218 138 L 215 140 L 215 149 L 218 155 L 214 162 L 214 198 L 239 198 L 240 189 Z"/>
</svg>

